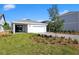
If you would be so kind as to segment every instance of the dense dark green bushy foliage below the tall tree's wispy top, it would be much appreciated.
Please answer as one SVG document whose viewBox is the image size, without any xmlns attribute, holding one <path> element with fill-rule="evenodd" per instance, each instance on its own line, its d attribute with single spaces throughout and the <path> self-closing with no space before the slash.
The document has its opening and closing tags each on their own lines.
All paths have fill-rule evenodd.
<svg viewBox="0 0 79 59">
<path fill-rule="evenodd" d="M 49 32 L 59 32 L 63 29 L 63 20 L 56 20 L 54 22 L 50 21 L 47 25 L 47 31 Z"/>
</svg>

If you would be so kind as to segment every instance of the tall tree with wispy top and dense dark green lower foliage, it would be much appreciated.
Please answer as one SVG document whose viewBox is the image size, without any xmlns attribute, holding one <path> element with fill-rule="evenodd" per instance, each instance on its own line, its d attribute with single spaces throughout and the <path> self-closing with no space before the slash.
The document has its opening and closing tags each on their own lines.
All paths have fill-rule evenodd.
<svg viewBox="0 0 79 59">
<path fill-rule="evenodd" d="M 52 5 L 52 8 L 48 9 L 49 12 L 49 19 L 51 20 L 48 23 L 47 30 L 49 32 L 58 32 L 61 31 L 63 28 L 63 20 L 60 19 L 58 13 L 57 5 Z"/>
</svg>

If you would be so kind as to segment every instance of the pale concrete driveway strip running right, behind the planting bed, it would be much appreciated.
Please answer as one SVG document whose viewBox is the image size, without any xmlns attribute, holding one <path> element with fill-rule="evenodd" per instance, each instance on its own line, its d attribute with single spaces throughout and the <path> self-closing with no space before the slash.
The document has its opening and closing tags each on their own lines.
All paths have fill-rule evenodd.
<svg viewBox="0 0 79 59">
<path fill-rule="evenodd" d="M 78 39 L 79 40 L 79 35 L 73 35 L 73 34 L 59 34 L 59 33 L 41 33 L 45 35 L 51 35 L 51 36 L 57 36 L 57 37 L 65 37 L 65 38 L 72 38 L 72 39 Z"/>
</svg>

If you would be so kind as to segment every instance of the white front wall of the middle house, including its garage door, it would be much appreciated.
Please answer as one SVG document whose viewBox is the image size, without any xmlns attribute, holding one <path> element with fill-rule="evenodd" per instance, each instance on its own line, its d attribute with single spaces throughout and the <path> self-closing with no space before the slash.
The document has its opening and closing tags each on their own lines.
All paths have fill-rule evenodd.
<svg viewBox="0 0 79 59">
<path fill-rule="evenodd" d="M 23 25 L 23 32 L 26 33 L 44 33 L 46 32 L 46 25 L 44 24 L 12 24 L 12 31 L 15 34 L 15 26 Z"/>
</svg>

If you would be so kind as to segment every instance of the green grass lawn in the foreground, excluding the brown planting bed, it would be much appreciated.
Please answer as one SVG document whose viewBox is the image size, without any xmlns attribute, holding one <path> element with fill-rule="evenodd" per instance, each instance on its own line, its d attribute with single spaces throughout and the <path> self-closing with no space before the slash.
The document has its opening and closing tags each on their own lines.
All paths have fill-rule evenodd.
<svg viewBox="0 0 79 59">
<path fill-rule="evenodd" d="M 13 34 L 0 37 L 1 55 L 63 55 L 79 54 L 79 48 L 68 45 L 49 45 L 32 41 L 36 34 Z"/>
</svg>

